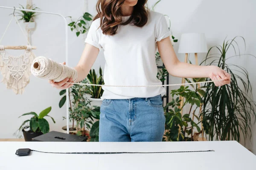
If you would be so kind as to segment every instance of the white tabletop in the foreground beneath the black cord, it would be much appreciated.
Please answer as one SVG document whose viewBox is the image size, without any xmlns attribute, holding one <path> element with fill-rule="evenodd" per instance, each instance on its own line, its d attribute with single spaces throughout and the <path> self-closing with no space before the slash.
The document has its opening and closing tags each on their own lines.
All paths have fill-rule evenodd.
<svg viewBox="0 0 256 170">
<path fill-rule="evenodd" d="M 32 152 L 215 152 L 82 155 Z M 223 142 L 0 142 L 0 170 L 256 170 L 256 156 L 235 141 Z"/>
</svg>

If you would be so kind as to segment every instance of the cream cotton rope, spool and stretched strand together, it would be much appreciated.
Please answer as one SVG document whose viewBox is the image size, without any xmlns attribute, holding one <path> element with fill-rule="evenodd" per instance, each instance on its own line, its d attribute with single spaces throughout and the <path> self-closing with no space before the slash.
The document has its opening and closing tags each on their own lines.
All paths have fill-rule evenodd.
<svg viewBox="0 0 256 170">
<path fill-rule="evenodd" d="M 200 84 L 207 82 L 218 82 L 223 81 L 224 79 L 211 80 L 204 82 L 190 82 L 190 83 L 181 83 L 181 84 L 172 84 L 172 85 L 96 85 L 96 84 L 87 84 L 87 83 L 75 83 L 77 79 L 77 71 L 74 68 L 68 67 L 61 63 L 52 61 L 52 59 L 47 59 L 46 57 L 37 57 L 34 59 L 31 65 L 31 73 L 35 77 L 53 80 L 54 82 L 61 82 L 62 80 L 72 78 L 74 82 L 67 82 L 68 84 L 75 85 L 90 85 L 90 86 L 104 86 L 104 87 L 159 87 L 159 86 L 178 86 L 178 85 L 192 85 Z"/>
</svg>

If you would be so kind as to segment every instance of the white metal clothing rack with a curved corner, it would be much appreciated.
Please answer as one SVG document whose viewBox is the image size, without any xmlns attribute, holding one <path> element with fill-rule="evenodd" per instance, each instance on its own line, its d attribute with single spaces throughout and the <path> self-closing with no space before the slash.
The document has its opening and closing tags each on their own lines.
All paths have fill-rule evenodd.
<svg viewBox="0 0 256 170">
<path fill-rule="evenodd" d="M 67 20 L 66 18 L 58 13 L 52 13 L 52 12 L 45 12 L 45 11 L 37 11 L 37 10 L 30 10 L 30 9 L 22 9 L 22 8 L 12 8 L 12 7 L 7 7 L 7 6 L 0 6 L 0 8 L 6 8 L 6 9 L 12 9 L 12 10 L 18 10 L 18 11 L 30 11 L 30 12 L 38 12 L 38 13 L 43 13 L 43 14 L 51 14 L 51 15 L 58 15 L 60 17 L 62 17 L 62 19 L 64 20 L 64 24 L 65 24 L 65 59 L 66 59 L 66 65 L 68 65 L 68 40 L 67 40 Z M 67 99 L 69 98 L 69 89 L 66 90 L 66 95 L 67 95 Z M 69 134 L 69 103 L 67 102 L 67 133 Z"/>
</svg>

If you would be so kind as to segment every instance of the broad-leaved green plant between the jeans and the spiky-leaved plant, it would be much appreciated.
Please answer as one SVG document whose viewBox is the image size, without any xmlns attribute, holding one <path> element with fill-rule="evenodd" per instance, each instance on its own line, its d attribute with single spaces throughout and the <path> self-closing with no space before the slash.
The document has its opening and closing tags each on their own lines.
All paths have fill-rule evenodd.
<svg viewBox="0 0 256 170">
<path fill-rule="evenodd" d="M 189 79 L 186 80 L 191 82 Z M 193 82 L 204 80 L 204 78 L 192 79 Z M 195 111 L 201 107 L 203 102 L 201 95 L 204 94 L 204 91 L 198 88 L 198 85 L 191 86 L 192 90 L 189 89 L 189 86 L 180 86 L 179 89 L 171 91 L 173 99 L 164 107 L 164 110 L 168 107 L 170 109 L 165 113 L 166 125 L 163 141 L 193 141 L 202 133 L 198 126 L 201 123 L 200 118 Z M 184 101 L 182 106 L 180 96 L 183 97 Z M 189 112 L 184 113 L 183 111 L 181 114 L 181 110 L 188 105 L 190 105 Z"/>
</svg>

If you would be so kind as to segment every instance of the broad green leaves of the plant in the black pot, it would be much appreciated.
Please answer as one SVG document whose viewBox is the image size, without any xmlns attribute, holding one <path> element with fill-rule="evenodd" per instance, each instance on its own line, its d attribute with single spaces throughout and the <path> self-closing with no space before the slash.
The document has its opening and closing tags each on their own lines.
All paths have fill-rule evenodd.
<svg viewBox="0 0 256 170">
<path fill-rule="evenodd" d="M 42 132 L 42 133 L 48 133 L 49 132 L 49 123 L 47 122 L 46 119 L 44 119 L 45 116 L 49 116 L 48 113 L 51 111 L 52 107 L 46 108 L 41 113 L 38 114 L 35 112 L 29 112 L 29 113 L 24 113 L 21 116 L 26 116 L 26 115 L 33 115 L 31 119 L 25 120 L 18 131 L 21 131 L 23 128 L 25 128 L 25 124 L 29 122 L 29 126 L 26 126 L 26 128 L 30 127 L 30 130 L 32 132 Z M 20 117 L 21 117 L 20 116 Z M 20 118 L 19 117 L 19 118 Z M 52 121 L 55 123 L 55 120 L 49 116 Z"/>
</svg>

